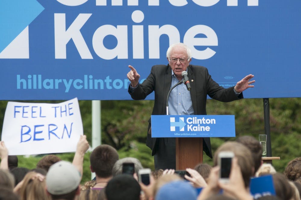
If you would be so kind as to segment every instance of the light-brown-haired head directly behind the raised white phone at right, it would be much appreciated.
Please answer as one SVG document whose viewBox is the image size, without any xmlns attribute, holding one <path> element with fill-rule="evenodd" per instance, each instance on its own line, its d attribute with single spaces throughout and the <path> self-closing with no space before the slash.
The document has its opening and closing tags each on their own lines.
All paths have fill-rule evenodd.
<svg viewBox="0 0 301 200">
<path fill-rule="evenodd" d="M 250 178 L 254 173 L 254 162 L 250 150 L 238 142 L 225 142 L 223 143 L 214 154 L 214 166 L 218 164 L 218 154 L 221 151 L 232 151 L 237 158 L 237 163 L 240 166 L 241 174 L 244 180 L 245 187 L 249 187 Z"/>
</svg>

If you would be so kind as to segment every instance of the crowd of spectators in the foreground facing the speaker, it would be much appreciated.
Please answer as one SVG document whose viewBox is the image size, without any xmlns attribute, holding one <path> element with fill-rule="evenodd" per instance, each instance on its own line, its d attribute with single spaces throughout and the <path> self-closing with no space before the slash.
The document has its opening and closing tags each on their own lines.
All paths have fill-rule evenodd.
<svg viewBox="0 0 301 200">
<path fill-rule="evenodd" d="M 137 158 L 119 159 L 112 146 L 103 144 L 90 155 L 90 169 L 95 178 L 81 183 L 83 158 L 89 148 L 86 136 L 80 137 L 73 162 L 62 161 L 56 155 L 44 156 L 35 169 L 18 167 L 17 156 L 9 156 L 0 142 L 0 200 L 248 200 L 252 177 L 271 175 L 275 195 L 256 199 L 300 200 L 301 157 L 287 164 L 284 173 L 277 173 L 261 158 L 262 148 L 251 136 L 223 143 L 213 156 L 213 165 L 200 163 L 187 168 L 180 176 L 175 169 L 157 169 L 151 172 L 150 184 L 139 181 L 143 169 Z M 228 183 L 219 181 L 218 154 L 234 153 Z M 133 163 L 133 174 L 123 173 L 123 163 Z"/>
</svg>

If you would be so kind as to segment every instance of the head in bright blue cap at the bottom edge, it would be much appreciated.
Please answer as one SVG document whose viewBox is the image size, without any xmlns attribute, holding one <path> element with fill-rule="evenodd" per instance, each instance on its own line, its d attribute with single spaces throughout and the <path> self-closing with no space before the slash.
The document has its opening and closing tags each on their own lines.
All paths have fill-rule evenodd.
<svg viewBox="0 0 301 200">
<path fill-rule="evenodd" d="M 155 196 L 156 200 L 196 200 L 197 191 L 194 187 L 183 180 L 172 181 L 164 184 Z"/>
</svg>

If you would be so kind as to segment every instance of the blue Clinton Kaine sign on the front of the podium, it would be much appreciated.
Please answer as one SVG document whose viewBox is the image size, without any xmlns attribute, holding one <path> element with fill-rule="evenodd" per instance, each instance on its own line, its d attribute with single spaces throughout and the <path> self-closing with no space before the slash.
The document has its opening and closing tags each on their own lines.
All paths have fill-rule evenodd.
<svg viewBox="0 0 301 200">
<path fill-rule="evenodd" d="M 152 115 L 152 137 L 235 137 L 234 115 Z"/>
</svg>

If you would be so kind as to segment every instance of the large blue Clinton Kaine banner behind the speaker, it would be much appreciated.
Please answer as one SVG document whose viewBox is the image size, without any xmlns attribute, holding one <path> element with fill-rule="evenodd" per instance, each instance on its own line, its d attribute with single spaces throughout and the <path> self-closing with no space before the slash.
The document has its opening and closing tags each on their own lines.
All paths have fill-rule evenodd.
<svg viewBox="0 0 301 200">
<path fill-rule="evenodd" d="M 245 98 L 301 97 L 300 8 L 296 0 L 2 0 L 0 100 L 129 100 L 128 65 L 143 81 L 176 42 L 225 88 L 254 74 Z"/>
</svg>

